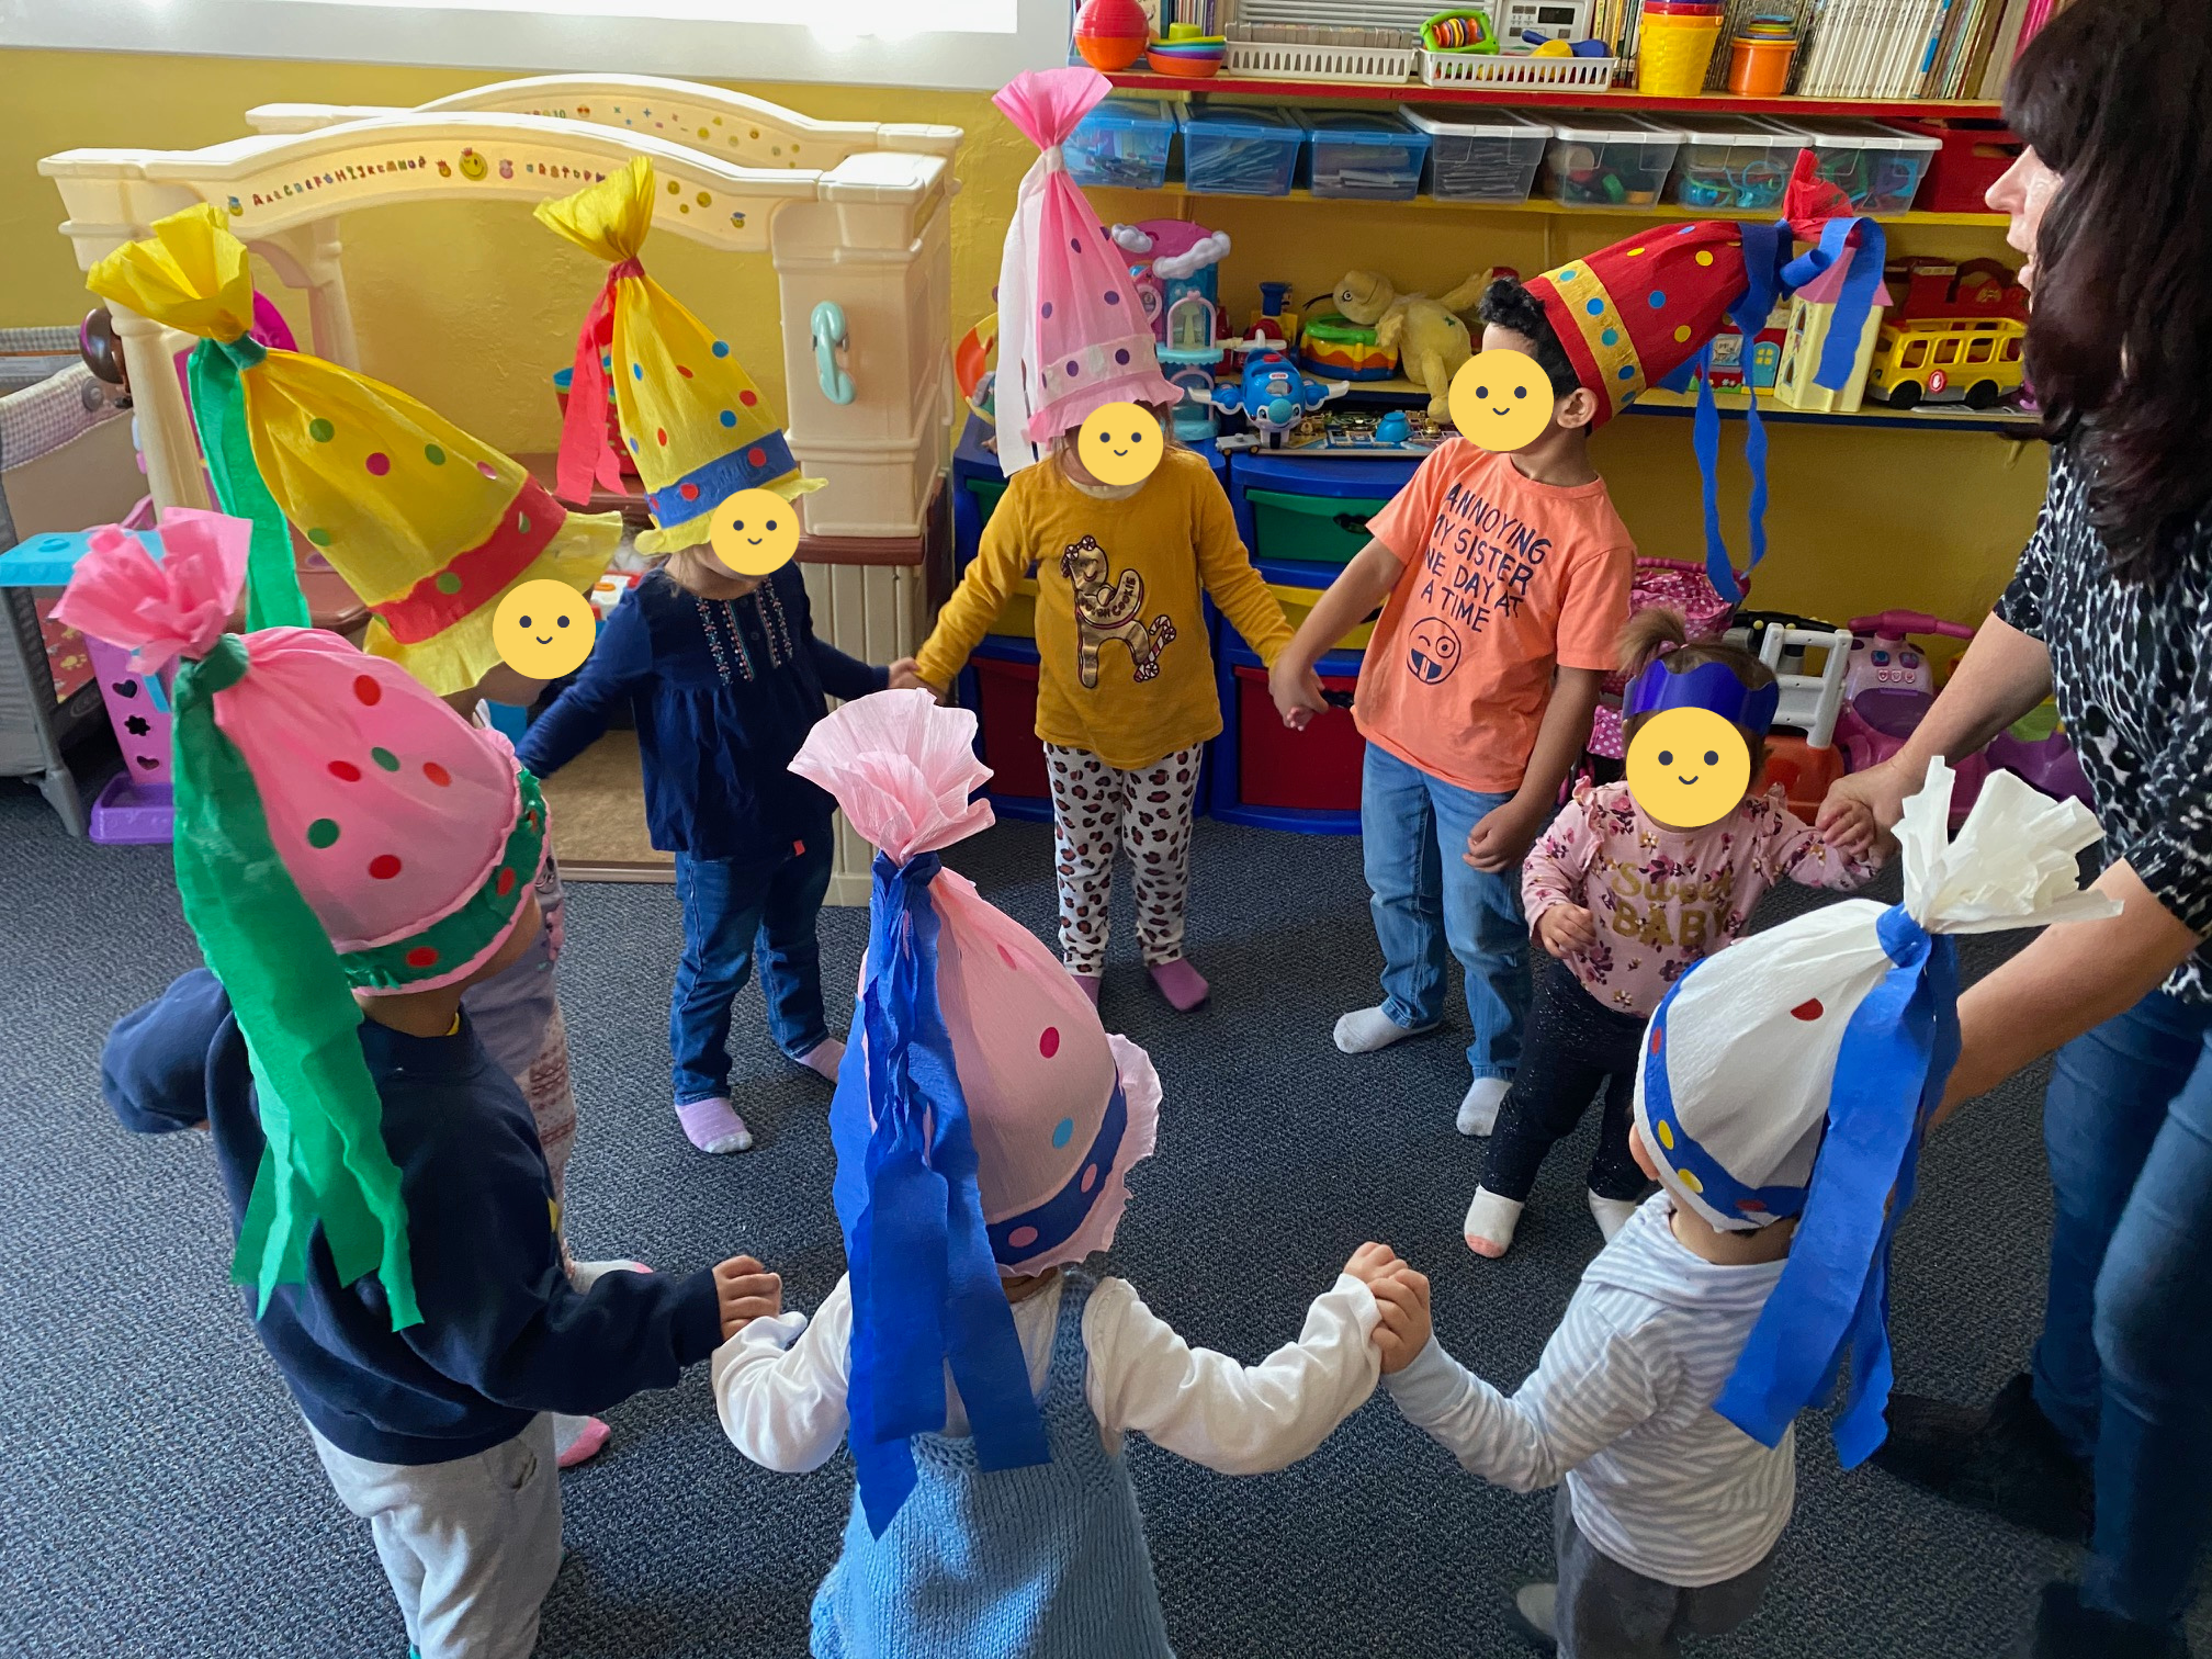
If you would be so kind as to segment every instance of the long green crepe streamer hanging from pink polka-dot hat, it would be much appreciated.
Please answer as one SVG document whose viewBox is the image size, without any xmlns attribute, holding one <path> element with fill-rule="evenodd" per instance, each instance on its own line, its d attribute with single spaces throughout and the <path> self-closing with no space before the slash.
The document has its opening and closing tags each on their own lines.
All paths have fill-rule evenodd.
<svg viewBox="0 0 2212 1659">
<path fill-rule="evenodd" d="M 215 692 L 243 672 L 246 641 L 223 635 L 170 690 L 177 891 L 246 1033 L 268 1137 L 230 1276 L 257 1285 L 268 1312 L 276 1285 L 305 1283 L 321 1223 L 338 1281 L 374 1270 L 392 1329 L 405 1329 L 422 1314 L 400 1172 L 361 1057 L 361 1009 L 330 936 L 276 856 L 246 757 L 215 726 Z"/>
</svg>

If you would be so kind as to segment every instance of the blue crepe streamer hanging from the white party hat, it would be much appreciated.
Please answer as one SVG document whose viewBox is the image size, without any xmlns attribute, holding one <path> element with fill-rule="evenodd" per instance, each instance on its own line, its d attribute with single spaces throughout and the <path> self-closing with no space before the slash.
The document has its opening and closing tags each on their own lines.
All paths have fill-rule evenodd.
<svg viewBox="0 0 2212 1659">
<path fill-rule="evenodd" d="M 1765 1447 L 1829 1398 L 1849 1356 L 1836 1455 L 1882 1444 L 1889 1402 L 1889 1243 L 1913 1201 L 1920 1135 L 1958 1062 L 1958 947 L 1902 905 L 1878 922 L 1896 967 L 1845 1026 L 1812 1192 L 1774 1294 L 1714 1411 Z"/>
</svg>

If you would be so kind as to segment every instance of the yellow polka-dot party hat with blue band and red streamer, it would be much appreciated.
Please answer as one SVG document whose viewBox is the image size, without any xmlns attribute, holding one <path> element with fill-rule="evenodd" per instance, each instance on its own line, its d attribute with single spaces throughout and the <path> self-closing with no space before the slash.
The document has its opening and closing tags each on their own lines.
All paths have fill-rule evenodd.
<svg viewBox="0 0 2212 1659">
<path fill-rule="evenodd" d="M 774 409 L 730 343 L 637 263 L 653 199 L 653 161 L 639 155 L 573 197 L 540 201 L 538 217 L 611 265 L 575 341 L 557 489 L 573 502 L 588 500 L 593 480 L 622 489 L 599 414 L 613 380 L 622 440 L 659 526 L 637 546 L 675 553 L 706 542 L 714 509 L 737 491 L 772 489 L 794 500 L 821 480 L 799 471 Z"/>
</svg>

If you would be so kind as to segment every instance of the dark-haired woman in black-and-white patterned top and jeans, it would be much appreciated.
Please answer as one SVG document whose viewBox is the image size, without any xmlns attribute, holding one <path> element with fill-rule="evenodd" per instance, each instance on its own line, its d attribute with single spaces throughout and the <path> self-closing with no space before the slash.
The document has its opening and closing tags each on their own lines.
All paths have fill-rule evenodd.
<svg viewBox="0 0 2212 1659">
<path fill-rule="evenodd" d="M 2212 9 L 2079 0 L 2013 66 L 2031 144 L 1989 192 L 2033 288 L 2051 491 L 1997 613 L 1907 748 L 1838 794 L 1893 823 L 1933 754 L 2057 690 L 2119 916 L 1960 1002 L 1949 1113 L 2064 1044 L 2033 1376 L 1984 1411 L 1898 1396 L 1885 1467 L 2057 1535 L 2033 1655 L 2185 1652 L 2212 1535 Z M 1832 803 L 1836 796 L 1832 796 Z M 1836 807 L 1832 805 L 1829 812 Z M 2064 938 L 2062 938 L 2064 933 Z"/>
</svg>

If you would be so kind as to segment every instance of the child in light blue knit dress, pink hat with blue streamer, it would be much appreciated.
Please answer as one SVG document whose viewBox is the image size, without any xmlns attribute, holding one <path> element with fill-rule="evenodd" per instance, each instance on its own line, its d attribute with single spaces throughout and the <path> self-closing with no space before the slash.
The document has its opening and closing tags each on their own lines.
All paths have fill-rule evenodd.
<svg viewBox="0 0 2212 1659">
<path fill-rule="evenodd" d="M 761 1318 L 728 1343 L 714 1398 L 770 1469 L 852 1444 L 858 1495 L 814 1597 L 816 1659 L 1164 1659 L 1121 1436 L 1225 1473 L 1307 1455 L 1374 1389 L 1367 1279 L 1398 1263 L 1363 1245 L 1298 1340 L 1254 1367 L 1075 1270 L 1113 1241 L 1124 1177 L 1152 1152 L 1159 1077 L 1026 929 L 938 865 L 991 823 L 969 805 L 989 776 L 973 737 L 967 710 L 887 692 L 836 710 L 794 763 L 883 847 L 832 1110 L 849 1274 L 812 1323 Z"/>
</svg>

